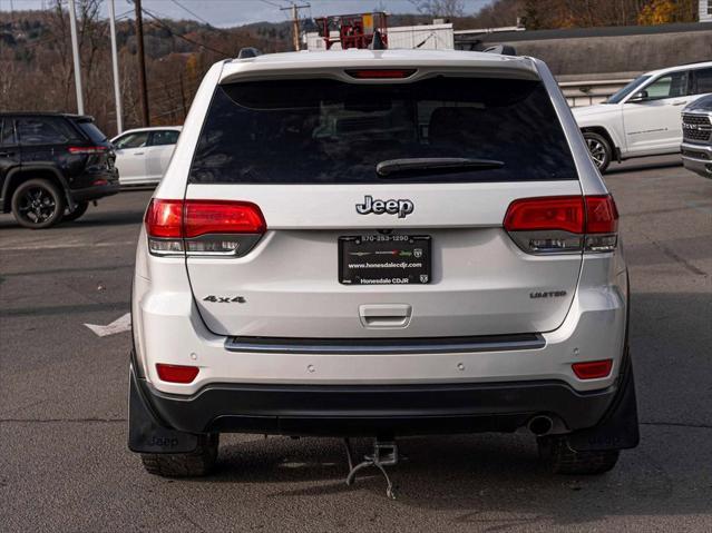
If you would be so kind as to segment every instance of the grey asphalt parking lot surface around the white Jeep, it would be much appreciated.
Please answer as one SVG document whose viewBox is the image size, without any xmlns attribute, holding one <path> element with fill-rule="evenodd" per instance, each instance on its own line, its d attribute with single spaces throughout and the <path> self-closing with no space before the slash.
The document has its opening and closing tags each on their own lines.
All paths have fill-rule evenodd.
<svg viewBox="0 0 712 533">
<path fill-rule="evenodd" d="M 228 435 L 220 472 L 144 473 L 126 447 L 129 310 L 150 191 L 43 231 L 0 216 L 0 531 L 712 531 L 712 180 L 615 165 L 642 442 L 599 477 L 546 474 L 528 434 L 409 438 L 347 487 L 338 440 Z M 365 443 L 360 443 L 365 444 Z"/>
</svg>

